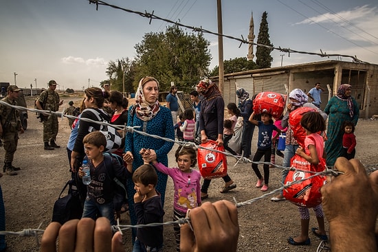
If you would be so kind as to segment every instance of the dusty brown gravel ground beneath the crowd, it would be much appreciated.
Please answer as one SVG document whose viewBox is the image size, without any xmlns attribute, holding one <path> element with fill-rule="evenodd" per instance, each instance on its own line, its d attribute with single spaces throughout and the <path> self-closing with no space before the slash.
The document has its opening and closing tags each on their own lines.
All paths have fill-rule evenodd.
<svg viewBox="0 0 378 252">
<path fill-rule="evenodd" d="M 81 98 L 65 98 L 65 106 L 69 100 Z M 34 100 L 28 100 L 32 108 Z M 78 102 L 77 102 L 78 104 Z M 41 229 L 49 224 L 52 207 L 65 182 L 70 178 L 67 161 L 66 144 L 69 136 L 67 119 L 60 120 L 57 143 L 62 146 L 56 150 L 43 150 L 42 124 L 37 121 L 34 113 L 29 113 L 29 127 L 21 135 L 19 147 L 14 157 L 14 165 L 22 170 L 18 176 L 4 175 L 0 179 L 5 202 L 5 218 L 7 231 L 21 231 L 28 228 Z M 377 138 L 378 121 L 360 120 L 356 129 L 357 158 L 364 164 L 378 165 Z M 256 146 L 256 134 L 252 144 L 252 152 Z M 174 147 L 175 150 L 177 146 Z M 0 157 L 3 159 L 3 148 Z M 175 165 L 173 151 L 170 152 L 170 166 Z M 277 158 L 278 164 L 282 159 Z M 221 179 L 210 185 L 208 201 L 227 199 L 242 202 L 262 196 L 264 193 L 254 185 L 256 177 L 250 164 L 241 163 L 234 167 L 234 159 L 229 157 L 229 174 L 237 184 L 235 190 L 227 194 L 219 193 L 223 186 Z M 262 168 L 261 168 L 262 169 Z M 269 192 L 280 187 L 280 170 L 271 169 Z M 166 194 L 165 220 L 173 216 L 173 184 L 168 179 Z M 267 196 L 252 205 L 238 208 L 241 227 L 238 240 L 238 251 L 316 251 L 320 240 L 310 233 L 311 246 L 293 247 L 287 244 L 289 236 L 296 236 L 300 231 L 300 220 L 297 207 L 289 202 L 273 203 Z M 122 224 L 129 224 L 127 214 L 122 214 Z M 311 213 L 310 227 L 317 227 L 315 216 Z M 328 231 L 328 225 L 327 225 Z M 126 232 L 124 243 L 127 251 L 131 251 L 130 232 Z M 164 227 L 165 250 L 175 251 L 173 227 Z M 41 236 L 38 237 L 39 239 Z M 6 236 L 9 252 L 38 251 L 36 239 L 33 237 Z"/>
</svg>

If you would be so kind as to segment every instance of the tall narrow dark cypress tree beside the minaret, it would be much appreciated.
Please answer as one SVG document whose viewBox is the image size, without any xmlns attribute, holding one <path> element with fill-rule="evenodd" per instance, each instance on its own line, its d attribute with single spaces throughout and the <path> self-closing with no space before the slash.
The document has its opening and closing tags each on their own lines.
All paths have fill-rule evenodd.
<svg viewBox="0 0 378 252">
<path fill-rule="evenodd" d="M 258 31 L 257 43 L 260 45 L 267 45 L 273 47 L 269 40 L 269 27 L 267 22 L 267 12 L 263 13 L 261 17 L 260 30 Z M 271 67 L 273 58 L 270 56 L 273 49 L 263 46 L 257 46 L 256 49 L 256 65 L 258 69 Z"/>
</svg>

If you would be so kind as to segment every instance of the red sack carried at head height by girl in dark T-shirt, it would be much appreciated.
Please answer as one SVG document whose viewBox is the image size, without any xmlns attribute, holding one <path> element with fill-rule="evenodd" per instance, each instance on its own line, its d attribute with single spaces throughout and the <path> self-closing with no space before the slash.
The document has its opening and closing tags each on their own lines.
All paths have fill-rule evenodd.
<svg viewBox="0 0 378 252">
<path fill-rule="evenodd" d="M 256 115 L 266 112 L 278 119 L 285 109 L 286 95 L 274 92 L 261 92 L 256 95 L 253 104 Z"/>
</svg>

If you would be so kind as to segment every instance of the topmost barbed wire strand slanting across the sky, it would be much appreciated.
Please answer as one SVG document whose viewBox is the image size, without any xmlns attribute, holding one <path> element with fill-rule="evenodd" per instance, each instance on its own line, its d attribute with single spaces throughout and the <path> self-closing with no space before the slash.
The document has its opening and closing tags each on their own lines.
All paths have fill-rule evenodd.
<svg viewBox="0 0 378 252">
<path fill-rule="evenodd" d="M 370 65 L 370 62 L 359 60 L 359 58 L 357 58 L 357 56 L 351 56 L 351 55 L 346 55 L 346 54 L 327 54 L 322 49 L 320 49 L 320 53 L 316 53 L 316 52 L 311 52 L 311 51 L 298 51 L 298 50 L 291 49 L 291 48 L 272 47 L 270 45 L 263 45 L 263 44 L 258 44 L 258 43 L 254 43 L 254 42 L 249 42 L 248 40 L 243 38 L 243 35 L 241 35 L 241 38 L 236 38 L 234 36 L 230 36 L 230 35 L 226 35 L 226 34 L 219 34 L 218 32 L 212 32 L 210 30 L 205 30 L 202 27 L 184 25 L 183 23 L 179 23 L 177 21 L 173 21 L 173 20 L 170 20 L 170 19 L 164 19 L 162 17 L 156 16 L 154 14 L 155 11 L 153 11 L 152 13 L 149 13 L 146 10 L 145 10 L 145 12 L 139 12 L 139 11 L 136 11 L 136 10 L 129 10 L 129 9 L 126 9 L 126 8 L 122 8 L 118 5 L 113 5 L 113 4 L 107 3 L 105 1 L 100 1 L 100 0 L 86 0 L 86 1 L 89 1 L 89 4 L 95 3 L 96 4 L 96 10 L 98 10 L 98 5 L 104 5 L 104 6 L 109 6 L 111 8 L 114 8 L 114 9 L 123 10 L 124 12 L 137 14 L 139 16 L 146 18 L 146 19 L 149 19 L 150 20 L 149 24 L 151 24 L 151 21 L 153 19 L 157 19 L 157 20 L 160 20 L 160 21 L 164 21 L 166 23 L 173 23 L 174 25 L 177 25 L 179 27 L 186 27 L 186 28 L 192 30 L 193 32 L 202 32 L 202 33 L 212 34 L 212 35 L 215 35 L 215 36 L 222 36 L 224 38 L 230 38 L 232 40 L 239 41 L 240 42 L 239 47 L 241 47 L 242 44 L 256 45 L 258 47 L 266 47 L 266 48 L 271 49 L 271 50 L 282 51 L 282 52 L 289 54 L 289 56 L 290 56 L 290 54 L 309 54 L 309 55 L 314 55 L 314 56 L 320 56 L 320 57 L 323 57 L 323 58 L 324 57 L 329 58 L 329 57 L 336 57 L 337 56 L 337 57 L 351 58 L 353 60 L 353 62 L 359 62 L 359 63 L 364 63 L 364 64 Z"/>
</svg>

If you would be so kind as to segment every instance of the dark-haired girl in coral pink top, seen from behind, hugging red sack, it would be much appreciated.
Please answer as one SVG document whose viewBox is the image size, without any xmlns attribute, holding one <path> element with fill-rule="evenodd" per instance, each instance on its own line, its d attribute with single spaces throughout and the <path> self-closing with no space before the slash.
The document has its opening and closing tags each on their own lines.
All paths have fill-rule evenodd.
<svg viewBox="0 0 378 252">
<path fill-rule="evenodd" d="M 323 131 L 326 128 L 324 119 L 318 112 L 307 112 L 302 116 L 300 125 L 302 125 L 304 130 L 306 130 L 307 136 L 304 139 L 304 148 L 302 148 L 302 146 L 298 147 L 296 154 L 309 161 L 309 163 L 318 165 L 320 163 L 320 159 L 323 158 L 324 155 L 323 137 L 318 134 L 319 131 Z M 309 245 L 311 243 L 309 238 L 309 208 L 298 207 L 298 209 L 300 212 L 300 236 L 297 236 L 296 238 L 290 237 L 287 239 L 287 241 L 291 245 Z M 313 227 L 311 231 L 321 240 L 328 240 L 326 230 L 324 229 L 324 214 L 322 205 L 313 207 L 313 210 L 315 211 L 319 228 Z"/>
</svg>

